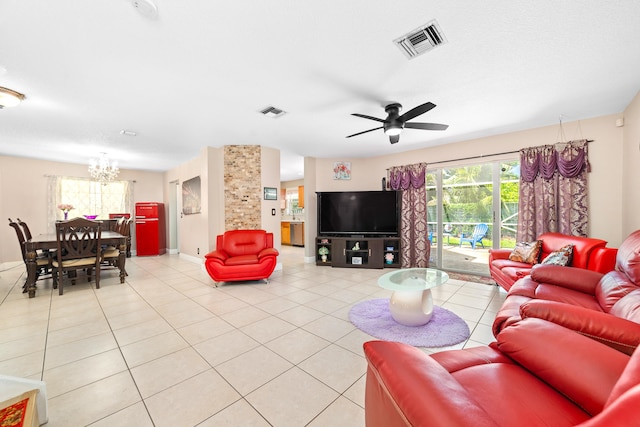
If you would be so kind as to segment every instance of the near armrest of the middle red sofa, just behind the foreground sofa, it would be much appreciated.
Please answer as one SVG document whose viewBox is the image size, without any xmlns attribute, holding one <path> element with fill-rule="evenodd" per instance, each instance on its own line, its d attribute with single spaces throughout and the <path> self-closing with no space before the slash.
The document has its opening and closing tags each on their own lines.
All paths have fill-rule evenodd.
<svg viewBox="0 0 640 427">
<path fill-rule="evenodd" d="M 520 307 L 520 316 L 548 320 L 626 354 L 633 353 L 640 345 L 640 324 L 585 307 L 532 300 Z"/>
</svg>

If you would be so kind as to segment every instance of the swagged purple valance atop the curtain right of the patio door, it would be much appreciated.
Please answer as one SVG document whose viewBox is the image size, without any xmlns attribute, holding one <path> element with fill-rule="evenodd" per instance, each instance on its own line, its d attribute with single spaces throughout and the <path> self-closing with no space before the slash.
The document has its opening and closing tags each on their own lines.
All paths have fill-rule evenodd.
<svg viewBox="0 0 640 427">
<path fill-rule="evenodd" d="M 589 171 L 587 140 L 570 141 L 558 150 L 554 145 L 520 150 L 520 177 L 533 182 L 538 175 L 551 179 L 556 171 L 565 178 L 575 178 Z"/>
</svg>

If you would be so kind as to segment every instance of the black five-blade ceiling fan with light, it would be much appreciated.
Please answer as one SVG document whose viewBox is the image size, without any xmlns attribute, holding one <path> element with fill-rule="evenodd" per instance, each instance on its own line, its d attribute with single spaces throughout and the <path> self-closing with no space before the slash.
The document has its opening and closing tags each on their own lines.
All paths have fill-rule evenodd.
<svg viewBox="0 0 640 427">
<path fill-rule="evenodd" d="M 400 115 L 400 110 L 402 109 L 402 105 L 398 103 L 389 104 L 384 107 L 384 111 L 387 112 L 386 119 L 379 119 L 377 117 L 367 116 L 365 114 L 353 113 L 352 116 L 362 117 L 363 119 L 375 120 L 376 122 L 381 122 L 383 125 L 377 128 L 365 130 L 362 132 L 354 133 L 353 135 L 347 136 L 347 138 L 351 138 L 352 136 L 362 135 L 363 133 L 371 132 L 378 129 L 384 129 L 384 133 L 389 135 L 389 141 L 392 144 L 395 144 L 400 140 L 400 133 L 402 129 L 423 129 L 423 130 L 446 130 L 449 125 L 443 125 L 440 123 L 416 123 L 409 122 L 409 120 L 418 117 L 421 114 L 426 113 L 427 111 L 434 108 L 436 105 L 431 102 L 426 102 L 422 105 L 418 105 L 415 108 L 407 111 L 403 115 Z"/>
</svg>

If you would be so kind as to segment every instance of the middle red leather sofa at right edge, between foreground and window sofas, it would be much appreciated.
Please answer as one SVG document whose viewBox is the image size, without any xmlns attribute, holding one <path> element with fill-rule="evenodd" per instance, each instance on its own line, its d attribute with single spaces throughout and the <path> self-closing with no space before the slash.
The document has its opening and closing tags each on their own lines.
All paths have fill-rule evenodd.
<svg viewBox="0 0 640 427">
<path fill-rule="evenodd" d="M 640 230 L 620 245 L 615 270 L 606 274 L 536 266 L 509 290 L 494 335 L 525 317 L 550 320 L 632 353 L 640 345 Z"/>
</svg>

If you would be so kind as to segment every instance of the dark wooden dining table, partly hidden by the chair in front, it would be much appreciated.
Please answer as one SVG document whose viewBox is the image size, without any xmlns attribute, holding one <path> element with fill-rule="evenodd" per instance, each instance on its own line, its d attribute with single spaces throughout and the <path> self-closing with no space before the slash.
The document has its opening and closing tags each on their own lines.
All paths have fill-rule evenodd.
<svg viewBox="0 0 640 427">
<path fill-rule="evenodd" d="M 127 236 L 123 236 L 115 231 L 102 230 L 100 233 L 100 243 L 103 245 L 115 246 L 120 250 L 118 256 L 118 268 L 120 269 L 120 283 L 124 283 L 126 270 L 124 267 L 127 249 Z M 36 296 L 36 279 L 38 267 L 36 264 L 37 250 L 56 249 L 58 241 L 56 233 L 45 233 L 33 236 L 31 240 L 24 242 L 26 258 L 27 258 L 27 281 L 26 287 L 29 292 L 29 298 Z"/>
</svg>

